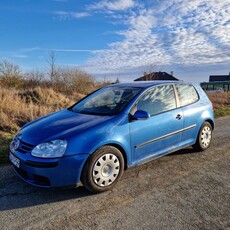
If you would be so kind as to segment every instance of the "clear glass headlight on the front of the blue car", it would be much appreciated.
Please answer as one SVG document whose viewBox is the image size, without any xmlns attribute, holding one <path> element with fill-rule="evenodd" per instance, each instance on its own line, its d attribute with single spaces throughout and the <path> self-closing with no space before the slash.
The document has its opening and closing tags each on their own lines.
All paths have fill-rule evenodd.
<svg viewBox="0 0 230 230">
<path fill-rule="evenodd" d="M 37 145 L 31 152 L 34 157 L 55 158 L 62 157 L 67 148 L 66 140 L 53 140 Z"/>
</svg>

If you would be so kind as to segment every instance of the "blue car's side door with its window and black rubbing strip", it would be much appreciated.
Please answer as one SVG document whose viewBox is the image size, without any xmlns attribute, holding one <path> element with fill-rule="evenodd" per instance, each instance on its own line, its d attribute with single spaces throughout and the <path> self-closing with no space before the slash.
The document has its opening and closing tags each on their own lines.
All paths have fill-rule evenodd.
<svg viewBox="0 0 230 230">
<path fill-rule="evenodd" d="M 150 118 L 130 121 L 133 165 L 177 148 L 182 136 L 183 114 L 177 108 L 173 85 L 158 85 L 147 90 L 131 113 L 135 110 L 148 112 Z"/>
</svg>

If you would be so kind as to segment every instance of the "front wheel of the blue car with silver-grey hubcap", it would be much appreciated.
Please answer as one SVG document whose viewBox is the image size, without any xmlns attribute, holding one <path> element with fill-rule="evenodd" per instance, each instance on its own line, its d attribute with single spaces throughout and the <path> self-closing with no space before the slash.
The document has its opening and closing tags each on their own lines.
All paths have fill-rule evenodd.
<svg viewBox="0 0 230 230">
<path fill-rule="evenodd" d="M 86 161 L 81 181 L 93 193 L 110 190 L 124 172 L 122 153 L 113 146 L 103 146 Z"/>
</svg>

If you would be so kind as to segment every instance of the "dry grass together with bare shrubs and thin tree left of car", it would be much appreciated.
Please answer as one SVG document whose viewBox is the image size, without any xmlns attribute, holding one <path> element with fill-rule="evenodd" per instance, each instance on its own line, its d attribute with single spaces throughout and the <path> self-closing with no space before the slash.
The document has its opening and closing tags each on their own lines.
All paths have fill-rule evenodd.
<svg viewBox="0 0 230 230">
<path fill-rule="evenodd" d="M 14 133 L 25 123 L 66 108 L 110 82 L 100 83 L 85 71 L 55 66 L 50 73 L 22 74 L 19 66 L 0 63 L 0 134 Z"/>
</svg>

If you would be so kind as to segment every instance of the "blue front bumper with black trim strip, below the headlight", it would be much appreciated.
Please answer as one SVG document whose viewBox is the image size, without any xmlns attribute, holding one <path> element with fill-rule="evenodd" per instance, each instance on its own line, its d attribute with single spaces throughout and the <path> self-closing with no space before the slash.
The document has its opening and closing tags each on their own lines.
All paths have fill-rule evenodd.
<svg viewBox="0 0 230 230">
<path fill-rule="evenodd" d="M 66 156 L 54 159 L 43 159 L 22 154 L 13 154 L 20 160 L 19 168 L 14 165 L 17 175 L 27 183 L 38 187 L 64 187 L 80 182 L 82 168 L 88 154 Z"/>
</svg>

